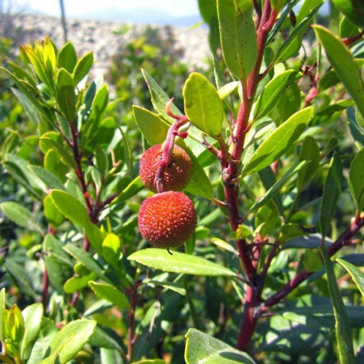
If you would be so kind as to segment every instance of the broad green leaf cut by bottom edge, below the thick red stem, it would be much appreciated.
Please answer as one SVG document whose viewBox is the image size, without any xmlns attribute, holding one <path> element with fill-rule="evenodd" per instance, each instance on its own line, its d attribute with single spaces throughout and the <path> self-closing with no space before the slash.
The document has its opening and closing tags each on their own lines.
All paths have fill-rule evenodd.
<svg viewBox="0 0 364 364">
<path fill-rule="evenodd" d="M 248 354 L 197 329 L 189 329 L 185 338 L 187 364 L 255 364 Z"/>
</svg>

